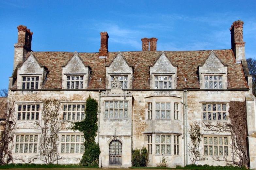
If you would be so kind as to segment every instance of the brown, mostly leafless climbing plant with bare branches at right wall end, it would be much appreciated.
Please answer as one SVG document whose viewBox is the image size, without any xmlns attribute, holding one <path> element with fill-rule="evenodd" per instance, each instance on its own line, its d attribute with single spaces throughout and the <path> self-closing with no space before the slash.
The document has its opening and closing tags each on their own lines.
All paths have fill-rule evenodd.
<svg viewBox="0 0 256 170">
<path fill-rule="evenodd" d="M 246 101 L 229 102 L 229 121 L 227 122 L 204 122 L 205 131 L 212 133 L 230 133 L 232 160 L 227 156 L 212 157 L 214 161 L 224 161 L 227 165 L 237 165 L 247 167 L 248 148 L 247 148 L 247 115 Z"/>
</svg>

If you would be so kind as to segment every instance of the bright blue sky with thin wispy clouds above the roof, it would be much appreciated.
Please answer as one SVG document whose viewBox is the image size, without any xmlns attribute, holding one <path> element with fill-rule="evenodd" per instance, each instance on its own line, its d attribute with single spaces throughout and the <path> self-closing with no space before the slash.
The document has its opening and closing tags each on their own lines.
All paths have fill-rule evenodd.
<svg viewBox="0 0 256 170">
<path fill-rule="evenodd" d="M 1 0 L 0 89 L 13 70 L 17 26 L 33 34 L 33 51 L 99 52 L 100 32 L 108 50 L 141 51 L 141 38 L 155 37 L 157 51 L 230 49 L 232 22 L 244 21 L 246 58 L 256 59 L 256 3 L 191 1 Z"/>
</svg>

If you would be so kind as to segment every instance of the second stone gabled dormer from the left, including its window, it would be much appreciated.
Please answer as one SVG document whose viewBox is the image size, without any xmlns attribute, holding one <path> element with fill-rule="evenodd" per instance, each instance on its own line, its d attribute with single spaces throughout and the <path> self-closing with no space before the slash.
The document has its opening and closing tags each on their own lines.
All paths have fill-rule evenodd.
<svg viewBox="0 0 256 170">
<path fill-rule="evenodd" d="M 62 89 L 86 89 L 91 68 L 86 66 L 79 54 L 75 52 L 62 66 Z"/>
</svg>

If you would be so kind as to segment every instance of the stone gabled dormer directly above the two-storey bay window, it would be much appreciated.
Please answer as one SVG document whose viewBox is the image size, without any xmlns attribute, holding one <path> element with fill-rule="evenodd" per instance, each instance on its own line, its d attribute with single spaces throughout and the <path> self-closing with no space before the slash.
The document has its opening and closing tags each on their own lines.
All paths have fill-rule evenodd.
<svg viewBox="0 0 256 170">
<path fill-rule="evenodd" d="M 175 66 L 167 54 L 162 53 L 150 66 L 150 88 L 151 89 L 176 89 L 177 66 Z"/>
</svg>

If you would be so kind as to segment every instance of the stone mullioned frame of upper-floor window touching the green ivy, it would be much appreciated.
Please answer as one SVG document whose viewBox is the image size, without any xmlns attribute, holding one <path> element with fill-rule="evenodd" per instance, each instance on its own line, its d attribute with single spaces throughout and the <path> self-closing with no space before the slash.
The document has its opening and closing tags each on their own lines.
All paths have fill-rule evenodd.
<svg viewBox="0 0 256 170">
<path fill-rule="evenodd" d="M 63 120 L 63 121 L 73 121 L 73 122 L 74 121 L 82 121 L 82 120 L 84 120 L 84 119 L 82 119 L 82 113 L 84 113 L 84 118 L 85 118 L 86 102 L 63 102 L 61 104 L 62 104 L 62 106 L 61 106 L 61 108 L 62 108 L 61 120 Z M 66 110 L 64 109 L 65 105 L 67 106 Z M 68 110 L 69 105 L 71 105 L 71 110 L 70 111 Z M 73 110 L 73 105 L 76 105 L 75 111 Z M 78 108 L 77 106 L 78 105 L 80 105 L 80 111 L 77 110 L 77 108 Z M 83 105 L 84 105 L 84 110 L 82 110 L 83 109 L 83 107 L 82 107 Z M 66 119 L 64 119 L 64 116 L 65 116 L 64 114 L 65 113 L 66 113 Z M 69 113 L 70 113 L 70 119 L 68 119 Z M 75 113 L 75 119 L 73 119 L 73 114 L 74 113 Z M 80 119 L 79 120 L 77 120 L 78 113 L 80 113 L 80 115 L 79 115 Z"/>
</svg>

